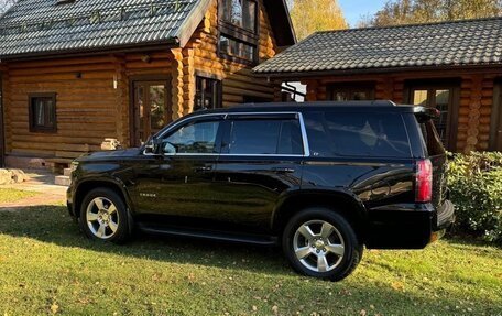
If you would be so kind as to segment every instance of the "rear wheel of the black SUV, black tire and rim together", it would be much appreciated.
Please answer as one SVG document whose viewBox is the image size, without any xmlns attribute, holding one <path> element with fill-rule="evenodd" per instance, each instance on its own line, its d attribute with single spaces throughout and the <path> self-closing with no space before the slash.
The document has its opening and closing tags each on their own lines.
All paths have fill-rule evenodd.
<svg viewBox="0 0 502 316">
<path fill-rule="evenodd" d="M 334 228 L 326 225 L 329 231 L 332 231 L 328 238 L 320 237 L 321 230 L 319 229 L 325 227 L 324 222 Z M 314 232 L 314 238 L 305 238 L 305 235 L 298 230 L 301 227 L 302 231 L 306 231 L 305 227 L 308 227 L 310 230 L 307 230 L 309 231 L 307 235 L 312 236 L 310 232 Z M 295 244 L 298 255 L 303 259 L 297 258 Z M 298 273 L 334 282 L 349 276 L 358 266 L 363 252 L 363 244 L 349 221 L 336 210 L 324 207 L 307 208 L 293 216 L 284 228 L 282 248 L 290 264 Z M 330 249 L 336 249 L 342 254 L 338 255 Z M 303 253 L 302 250 L 306 252 Z M 326 259 L 319 259 L 319 257 Z M 331 266 L 329 261 L 332 262 Z M 328 264 L 326 265 L 326 263 Z M 314 271 L 316 264 L 317 271 Z M 321 268 L 319 269 L 319 266 Z"/>
</svg>

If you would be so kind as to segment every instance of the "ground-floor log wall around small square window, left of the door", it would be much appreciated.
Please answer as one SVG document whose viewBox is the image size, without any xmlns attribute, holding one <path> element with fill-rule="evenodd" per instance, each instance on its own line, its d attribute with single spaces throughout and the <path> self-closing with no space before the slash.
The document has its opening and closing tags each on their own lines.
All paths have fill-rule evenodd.
<svg viewBox="0 0 502 316">
<path fill-rule="evenodd" d="M 106 55 L 11 62 L 2 72 L 6 153 L 19 156 L 77 157 L 100 150 L 106 138 L 130 143 L 129 79 L 170 75 L 171 53 Z M 57 132 L 30 131 L 29 95 L 56 94 Z"/>
</svg>

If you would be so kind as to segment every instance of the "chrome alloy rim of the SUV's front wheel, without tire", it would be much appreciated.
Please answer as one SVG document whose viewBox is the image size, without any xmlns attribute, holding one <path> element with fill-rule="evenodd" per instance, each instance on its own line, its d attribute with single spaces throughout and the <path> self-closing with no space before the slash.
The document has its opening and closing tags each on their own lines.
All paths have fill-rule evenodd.
<svg viewBox="0 0 502 316">
<path fill-rule="evenodd" d="M 94 236 L 99 239 L 110 239 L 119 228 L 120 218 L 111 200 L 97 197 L 87 206 L 86 220 Z"/>
</svg>

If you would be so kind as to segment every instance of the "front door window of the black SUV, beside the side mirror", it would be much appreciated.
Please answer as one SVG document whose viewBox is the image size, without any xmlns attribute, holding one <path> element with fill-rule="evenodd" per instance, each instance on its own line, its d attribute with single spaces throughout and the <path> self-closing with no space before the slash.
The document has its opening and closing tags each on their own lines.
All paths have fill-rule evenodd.
<svg viewBox="0 0 502 316">
<path fill-rule="evenodd" d="M 220 121 L 199 121 L 184 126 L 162 140 L 161 153 L 212 154 L 217 153 L 216 142 Z"/>
</svg>

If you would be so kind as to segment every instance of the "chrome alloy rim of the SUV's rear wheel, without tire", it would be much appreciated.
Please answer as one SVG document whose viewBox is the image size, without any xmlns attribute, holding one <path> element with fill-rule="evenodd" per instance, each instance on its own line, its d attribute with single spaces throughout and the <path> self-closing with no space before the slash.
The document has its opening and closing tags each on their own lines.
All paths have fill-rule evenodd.
<svg viewBox="0 0 502 316">
<path fill-rule="evenodd" d="M 325 220 L 310 220 L 298 227 L 293 238 L 296 259 L 314 272 L 337 268 L 345 253 L 345 241 L 338 229 Z"/>
</svg>

